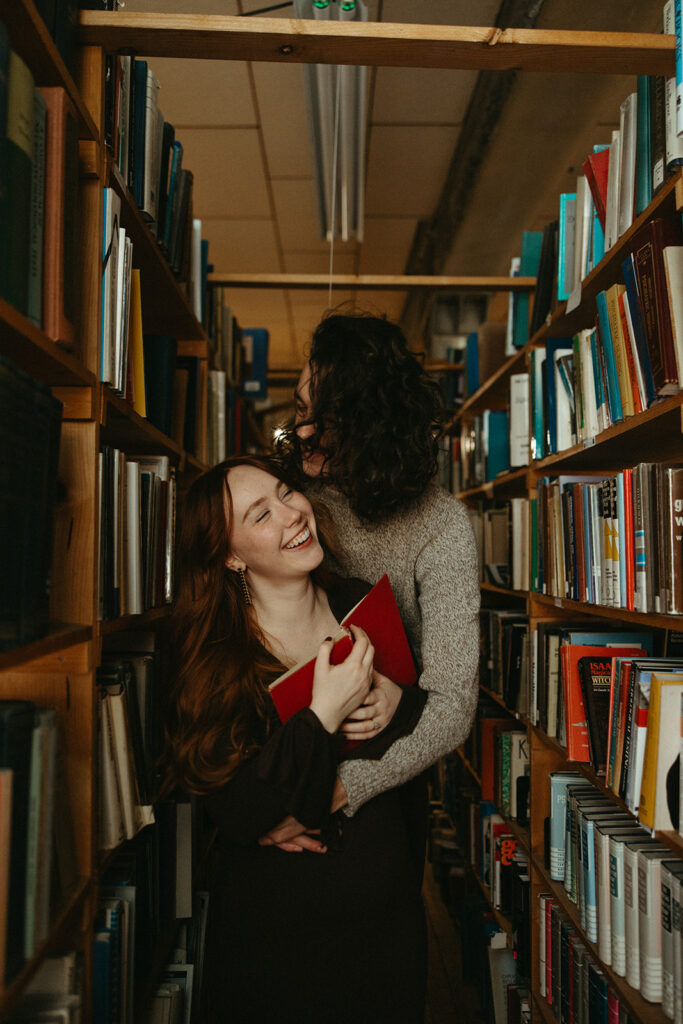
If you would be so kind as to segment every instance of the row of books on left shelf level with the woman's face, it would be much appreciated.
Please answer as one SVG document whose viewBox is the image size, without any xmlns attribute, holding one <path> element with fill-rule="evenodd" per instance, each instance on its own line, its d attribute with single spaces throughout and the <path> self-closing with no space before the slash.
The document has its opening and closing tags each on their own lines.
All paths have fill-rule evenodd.
<svg viewBox="0 0 683 1024">
<path fill-rule="evenodd" d="M 99 617 L 173 600 L 175 472 L 168 456 L 99 454 Z"/>
</svg>

